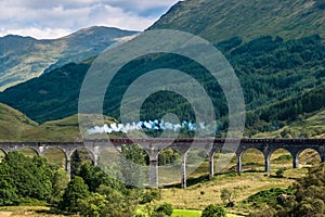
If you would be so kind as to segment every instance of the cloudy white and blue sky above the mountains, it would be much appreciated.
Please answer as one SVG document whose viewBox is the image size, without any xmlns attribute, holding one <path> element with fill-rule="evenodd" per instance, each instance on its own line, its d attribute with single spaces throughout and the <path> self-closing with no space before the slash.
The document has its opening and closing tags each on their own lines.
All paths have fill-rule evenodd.
<svg viewBox="0 0 325 217">
<path fill-rule="evenodd" d="M 0 36 L 58 38 L 89 26 L 143 30 L 178 0 L 0 0 Z"/>
</svg>

